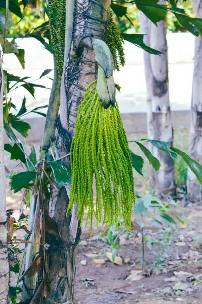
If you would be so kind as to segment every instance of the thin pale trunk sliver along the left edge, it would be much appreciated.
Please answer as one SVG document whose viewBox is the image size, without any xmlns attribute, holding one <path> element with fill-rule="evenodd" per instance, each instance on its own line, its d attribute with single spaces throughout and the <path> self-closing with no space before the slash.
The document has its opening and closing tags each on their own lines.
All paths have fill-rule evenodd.
<svg viewBox="0 0 202 304">
<path fill-rule="evenodd" d="M 0 303 L 8 303 L 9 264 L 3 146 L 3 70 L 0 50 Z"/>
</svg>

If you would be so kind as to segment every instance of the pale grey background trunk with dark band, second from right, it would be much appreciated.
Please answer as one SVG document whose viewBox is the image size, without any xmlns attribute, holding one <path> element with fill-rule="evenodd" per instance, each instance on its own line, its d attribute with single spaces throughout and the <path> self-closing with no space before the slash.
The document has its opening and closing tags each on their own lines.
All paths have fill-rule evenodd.
<svg viewBox="0 0 202 304">
<path fill-rule="evenodd" d="M 159 4 L 164 4 L 160 0 Z M 147 86 L 147 130 L 148 138 L 173 142 L 173 127 L 168 90 L 168 51 L 166 22 L 155 26 L 143 13 L 140 15 L 141 32 L 146 34 L 145 43 L 160 52 L 161 56 L 144 52 L 144 66 Z M 152 187 L 164 194 L 175 194 L 174 161 L 165 152 L 154 146 L 151 152 L 161 163 L 158 172 L 152 169 Z"/>
</svg>

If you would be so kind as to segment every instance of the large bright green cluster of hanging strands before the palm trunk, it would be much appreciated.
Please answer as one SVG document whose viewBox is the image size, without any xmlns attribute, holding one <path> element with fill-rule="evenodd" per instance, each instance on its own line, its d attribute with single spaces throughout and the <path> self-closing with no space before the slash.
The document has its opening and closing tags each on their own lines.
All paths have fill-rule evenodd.
<svg viewBox="0 0 202 304">
<path fill-rule="evenodd" d="M 87 87 L 76 120 L 68 207 L 72 210 L 77 201 L 81 222 L 87 209 L 91 232 L 93 215 L 97 223 L 116 226 L 123 217 L 126 227 L 130 227 L 135 203 L 131 153 L 118 105 L 104 109 L 96 87 L 92 87 L 94 83 Z"/>
</svg>

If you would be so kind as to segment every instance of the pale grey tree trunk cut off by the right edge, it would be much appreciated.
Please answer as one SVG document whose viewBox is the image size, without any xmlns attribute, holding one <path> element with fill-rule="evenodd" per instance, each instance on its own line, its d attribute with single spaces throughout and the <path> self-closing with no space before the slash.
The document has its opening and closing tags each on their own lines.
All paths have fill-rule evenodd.
<svg viewBox="0 0 202 304">
<path fill-rule="evenodd" d="M 195 0 L 197 18 L 202 18 L 202 0 Z M 202 165 L 202 38 L 195 38 L 194 75 L 189 130 L 190 157 Z M 191 201 L 202 201 L 202 187 L 188 168 L 187 192 Z"/>
</svg>

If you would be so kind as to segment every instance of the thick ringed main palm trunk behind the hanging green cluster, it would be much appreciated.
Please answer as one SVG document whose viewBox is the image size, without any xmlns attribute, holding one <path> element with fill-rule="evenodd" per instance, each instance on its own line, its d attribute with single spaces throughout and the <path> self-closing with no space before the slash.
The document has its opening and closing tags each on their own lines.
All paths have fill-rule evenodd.
<svg viewBox="0 0 202 304">
<path fill-rule="evenodd" d="M 83 43 L 80 44 L 80 41 L 92 35 L 105 40 L 110 2 L 110 0 L 67 1 L 60 122 L 57 124 L 58 157 L 67 155 L 70 151 L 79 105 L 87 85 L 96 79 L 97 74 L 94 52 L 83 46 Z M 68 192 L 66 187 L 55 193 L 50 206 L 50 215 L 61 233 L 61 243 L 60 246 L 53 245 L 53 251 L 49 254 L 50 294 L 45 303 L 67 301 L 77 303 L 74 296 L 74 278 L 81 228 L 76 225 L 75 216 L 66 217 Z"/>
</svg>

